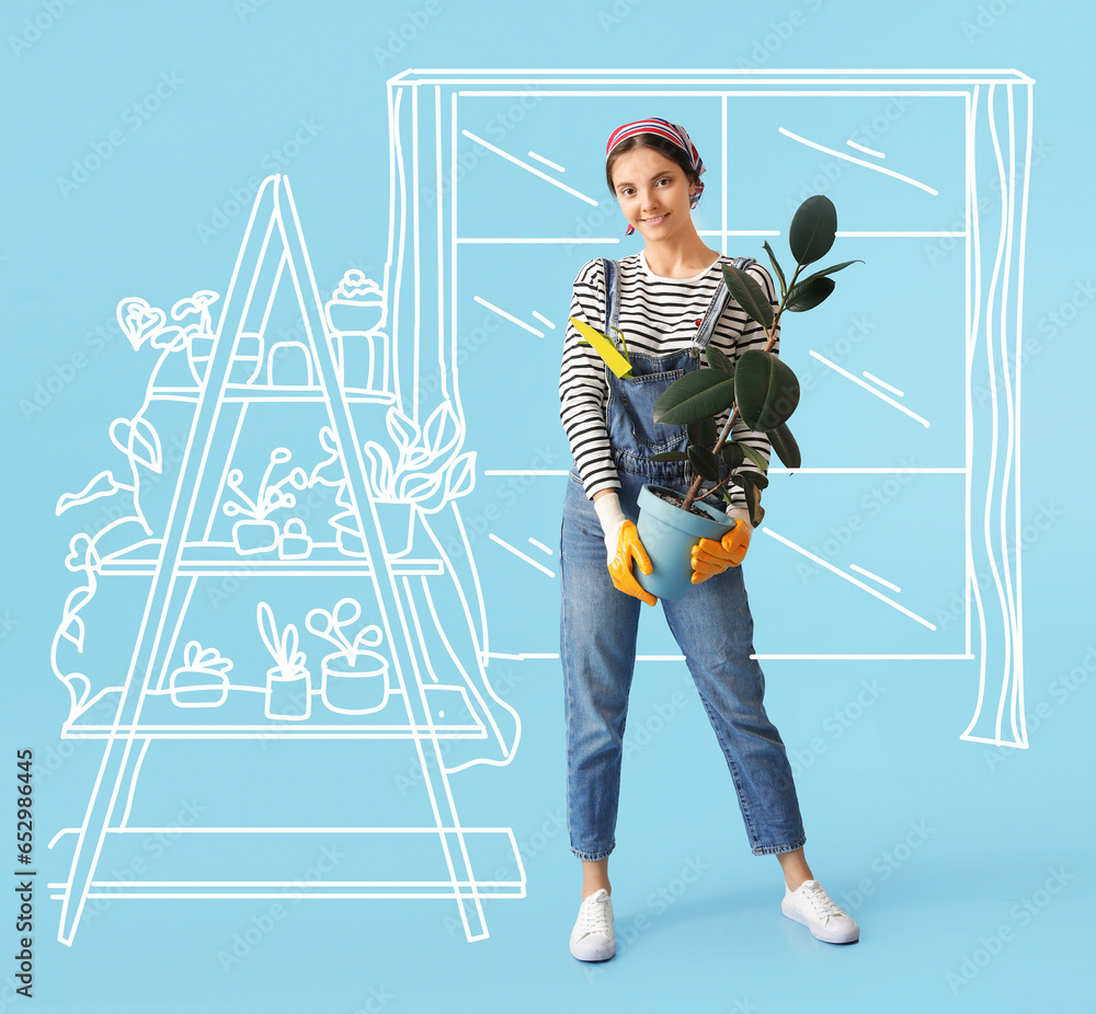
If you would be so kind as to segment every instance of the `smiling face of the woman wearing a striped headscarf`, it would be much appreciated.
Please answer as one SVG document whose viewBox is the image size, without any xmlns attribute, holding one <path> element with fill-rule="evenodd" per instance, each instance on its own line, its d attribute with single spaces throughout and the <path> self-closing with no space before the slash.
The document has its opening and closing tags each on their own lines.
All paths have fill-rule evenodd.
<svg viewBox="0 0 1096 1014">
<path fill-rule="evenodd" d="M 692 185 L 682 168 L 653 148 L 633 148 L 613 164 L 620 210 L 644 240 L 673 241 L 693 230 Z"/>
</svg>

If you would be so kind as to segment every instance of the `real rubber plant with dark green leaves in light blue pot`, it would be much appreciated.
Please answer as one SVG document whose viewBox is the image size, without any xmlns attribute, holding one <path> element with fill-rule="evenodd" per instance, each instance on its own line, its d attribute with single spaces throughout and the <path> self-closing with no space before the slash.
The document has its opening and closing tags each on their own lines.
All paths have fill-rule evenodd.
<svg viewBox="0 0 1096 1014">
<path fill-rule="evenodd" d="M 837 211 L 825 196 L 808 197 L 796 211 L 788 230 L 788 245 L 796 258 L 791 279 L 784 270 L 768 242 L 763 245 L 773 265 L 780 287 L 780 302 L 776 310 L 769 304 L 762 287 L 745 272 L 723 265 L 723 280 L 731 296 L 746 314 L 765 329 L 765 349 L 750 349 L 731 362 L 718 348 L 706 349 L 707 367 L 686 372 L 671 384 L 654 405 L 655 423 L 686 426 L 688 446 L 685 451 L 657 454 L 660 461 L 688 462 L 693 479 L 684 499 L 674 491 L 654 484 L 643 486 L 639 496 L 637 529 L 640 541 L 651 557 L 653 572 L 636 571 L 639 584 L 663 599 L 680 599 L 689 591 L 692 546 L 701 538 L 719 540 L 733 527 L 724 511 L 710 502 L 717 495 L 730 503 L 729 485 L 740 486 L 746 499 L 753 523 L 764 517 L 757 489 L 768 485 L 768 463 L 756 449 L 732 440 L 731 429 L 738 418 L 753 430 L 764 433 L 773 450 L 789 469 L 802 464 L 799 445 L 788 428 L 788 419 L 799 404 L 799 380 L 795 371 L 773 354 L 776 329 L 785 311 L 803 312 L 825 300 L 834 290 L 830 277 L 850 264 L 844 261 L 814 272 L 799 280 L 800 273 L 829 253 L 837 233 Z M 612 339 L 587 324 L 571 319 L 580 333 L 601 354 L 603 343 Z M 601 348 L 600 348 L 601 347 Z M 625 346 L 626 353 L 627 346 Z M 716 419 L 728 412 L 722 428 Z M 754 468 L 735 472 L 749 461 Z M 705 483 L 711 485 L 705 487 Z M 705 503 L 708 500 L 708 503 Z"/>
</svg>

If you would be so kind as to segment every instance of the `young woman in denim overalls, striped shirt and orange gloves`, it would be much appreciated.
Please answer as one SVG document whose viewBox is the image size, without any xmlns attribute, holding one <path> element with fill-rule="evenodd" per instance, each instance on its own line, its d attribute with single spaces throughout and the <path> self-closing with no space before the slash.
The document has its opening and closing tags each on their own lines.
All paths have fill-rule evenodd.
<svg viewBox="0 0 1096 1014">
<path fill-rule="evenodd" d="M 713 329 L 698 325 L 731 258 L 697 234 L 689 209 L 704 189 L 704 163 L 684 128 L 651 118 L 625 124 L 606 145 L 609 191 L 646 245 L 619 262 L 619 327 L 632 366 L 618 380 L 596 352 L 568 324 L 560 371 L 560 419 L 574 466 L 563 502 L 560 571 L 560 658 L 567 718 L 567 798 L 571 851 L 582 860 L 582 903 L 571 933 L 571 954 L 606 960 L 616 953 L 608 855 L 616 845 L 620 761 L 628 691 L 636 660 L 641 602 L 655 599 L 632 567 L 651 573 L 635 519 L 639 491 L 657 482 L 685 492 L 677 462 L 653 461 L 664 450 L 684 450 L 683 428 L 658 427 L 650 406 L 682 371 L 697 369 L 693 346 L 711 341 L 731 360 L 764 348 L 761 326 L 728 301 Z M 772 278 L 756 263 L 749 272 L 776 304 Z M 607 332 L 606 293 L 600 260 L 574 280 L 571 315 Z M 615 333 L 614 333 L 615 336 Z M 726 420 L 726 415 L 724 415 Z M 763 433 L 738 420 L 734 439 L 767 459 Z M 676 442 L 674 442 L 676 441 Z M 785 880 L 781 909 L 819 940 L 852 943 L 856 923 L 830 899 L 803 856 L 799 800 L 784 741 L 763 703 L 765 680 L 753 654 L 753 621 L 740 564 L 751 526 L 742 492 L 731 487 L 727 512 L 734 528 L 721 542 L 701 540 L 694 550 L 688 596 L 662 603 L 705 711 L 730 769 L 751 849 L 773 853 Z"/>
</svg>

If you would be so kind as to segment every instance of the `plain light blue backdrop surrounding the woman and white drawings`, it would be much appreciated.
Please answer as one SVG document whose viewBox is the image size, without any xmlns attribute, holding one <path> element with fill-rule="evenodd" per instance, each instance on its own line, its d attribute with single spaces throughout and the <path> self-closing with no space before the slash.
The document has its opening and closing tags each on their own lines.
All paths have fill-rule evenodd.
<svg viewBox="0 0 1096 1014">
<path fill-rule="evenodd" d="M 487 904 L 489 940 L 466 943 L 452 902 L 310 901 L 289 907 L 274 932 L 226 972 L 217 952 L 267 903 L 127 902 L 83 925 L 67 948 L 53 940 L 58 906 L 39 887 L 35 1010 L 351 1014 L 377 1010 L 378 995 L 391 1012 L 1093 1007 L 1082 972 L 1091 963 L 1088 913 L 1096 901 L 1087 868 L 1096 636 L 1084 392 L 1096 311 L 1085 306 L 1062 327 L 1052 318 L 1096 275 L 1083 191 L 1093 154 L 1089 5 L 78 2 L 13 53 L 10 36 L 46 8 L 9 3 L 0 15 L 8 435 L 0 650 L 9 776 L 15 748 L 32 747 L 39 758 L 58 748 L 68 704 L 48 667 L 49 638 L 72 587 L 62 566 L 72 530 L 54 518 L 54 504 L 105 466 L 106 427 L 133 405 L 147 376 L 147 361 L 138 361 L 114 324 L 118 299 L 139 293 L 163 304 L 222 288 L 243 221 L 237 217 L 205 238 L 198 226 L 212 221 L 233 188 L 271 171 L 272 151 L 302 119 L 320 129 L 275 171 L 293 181 L 316 275 L 338 279 L 357 266 L 379 278 L 388 233 L 385 80 L 407 67 L 699 69 L 752 61 L 788 69 L 1017 68 L 1035 78 L 1042 155 L 1032 171 L 1024 326 L 1046 341 L 1024 372 L 1021 514 L 1032 522 L 1054 520 L 1024 550 L 1029 750 L 959 741 L 975 690 L 969 667 L 766 665 L 769 713 L 797 763 L 807 854 L 860 922 L 856 947 L 820 944 L 780 915 L 777 864 L 750 854 L 695 692 L 683 667 L 667 667 L 641 669 L 632 699 L 632 736 L 660 707 L 673 717 L 643 739 L 626 769 L 613 861 L 620 954 L 594 970 L 573 961 L 564 938 L 579 866 L 558 819 L 559 675 L 555 662 L 533 662 L 504 679 L 504 696 L 525 726 L 516 760 L 501 770 L 473 769 L 456 783 L 466 823 L 510 826 L 527 852 L 528 897 Z M 792 12 L 802 24 L 788 32 Z M 406 28 L 415 24 L 414 32 Z M 787 38 L 779 37 L 781 25 Z M 397 46 L 386 47 L 401 27 L 413 37 L 391 51 Z M 130 129 L 125 111 L 161 74 L 175 74 L 178 90 Z M 57 177 L 115 128 L 125 143 L 64 196 Z M 596 147 L 574 155 L 601 158 Z M 507 214 L 536 209 L 514 206 Z M 575 267 L 589 255 L 576 254 Z M 844 277 L 838 291 L 852 286 L 850 273 Z M 564 286 L 551 308 L 556 319 L 568 296 Z M 114 339 L 93 352 L 88 335 L 101 324 Z M 78 353 L 84 366 L 45 410 L 30 418 L 20 412 L 20 400 L 33 397 L 35 385 L 64 372 Z M 551 389 L 556 378 L 528 382 Z M 549 504 L 546 515 L 553 509 Z M 903 528 L 916 560 L 923 541 L 936 537 L 931 505 Z M 778 632 L 786 622 L 778 590 L 755 597 L 760 632 Z M 504 638 L 516 613 L 500 611 L 491 622 L 492 635 Z M 547 627 L 552 622 L 544 620 Z M 797 614 L 795 622 L 810 619 Z M 1066 682 L 1071 672 L 1084 681 Z M 870 706 L 846 727 L 841 717 L 864 681 L 876 688 L 861 699 Z M 672 702 L 680 689 L 688 701 L 678 707 Z M 38 781 L 42 883 L 65 876 L 50 867 L 45 843 L 79 820 L 99 757 L 98 745 L 84 744 Z M 217 772 L 217 763 L 214 750 L 198 758 L 185 748 L 165 750 L 157 775 L 164 798 L 187 798 L 192 773 L 235 784 L 239 772 Z M 344 751 L 327 767 L 279 768 L 276 776 L 286 798 L 296 798 L 375 773 Z M 889 864 L 887 855 L 913 826 L 931 830 L 904 862 Z M 673 904 L 660 902 L 659 890 L 674 885 L 690 861 L 703 875 L 671 896 Z M 1071 879 L 1060 894 L 1037 896 L 1053 871 Z M 872 894 L 857 899 L 852 892 L 865 880 Z M 1014 907 L 1032 896 L 1048 903 L 1036 904 L 1032 917 L 1017 914 Z M 9 912 L 5 902 L 5 955 L 14 953 Z M 648 929 L 636 932 L 638 925 Z M 1002 926 L 1012 933 L 1000 954 L 963 984 L 949 983 L 948 973 L 961 973 L 964 959 Z M 2 959 L 0 979 L 11 966 Z"/>
</svg>

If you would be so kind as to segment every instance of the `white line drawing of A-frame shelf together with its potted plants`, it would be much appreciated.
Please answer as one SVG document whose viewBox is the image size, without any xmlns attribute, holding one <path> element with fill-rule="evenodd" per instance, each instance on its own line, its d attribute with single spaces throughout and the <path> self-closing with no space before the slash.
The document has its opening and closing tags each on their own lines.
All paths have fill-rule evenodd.
<svg viewBox="0 0 1096 1014">
<path fill-rule="evenodd" d="M 50 885 L 61 901 L 58 940 L 71 945 L 89 898 L 301 896 L 290 880 L 218 877 L 217 855 L 238 834 L 311 840 L 317 849 L 338 841 L 358 855 L 361 876 L 312 884 L 308 897 L 449 898 L 467 940 L 482 940 L 483 901 L 524 897 L 525 871 L 509 828 L 461 825 L 450 779 L 476 764 L 509 764 L 521 721 L 483 668 L 482 595 L 455 503 L 476 481 L 476 452 L 463 450 L 456 371 L 447 375 L 438 359 L 441 395 L 429 413 L 418 389 L 406 397 L 407 377 L 427 368 L 426 355 L 415 344 L 401 357 L 395 331 L 383 330 L 385 289 L 361 272 L 346 272 L 321 301 L 282 175 L 269 176 L 255 197 L 214 325 L 218 299 L 203 290 L 180 300 L 171 313 L 179 325 L 137 297 L 122 300 L 119 326 L 134 348 L 160 350 L 140 410 L 110 427 L 132 477 L 100 472 L 57 503 L 58 515 L 119 495 L 133 505 L 73 537 L 66 561 L 83 584 L 65 602 L 52 648 L 70 693 L 62 735 L 105 744 L 80 827 L 50 843 L 73 845 L 67 882 Z M 156 420 L 171 411 L 190 413 L 190 436 L 173 494 L 153 515 L 142 483 L 164 471 Z M 282 418 L 299 425 L 278 429 Z M 459 554 L 443 549 L 438 528 Z M 216 591 L 210 580 L 239 573 L 241 562 L 255 601 L 250 620 L 207 642 L 194 619 L 202 591 Z M 286 577 L 331 590 L 304 592 L 311 608 L 287 614 L 285 595 L 277 606 L 272 597 Z M 85 618 L 93 600 L 130 578 L 147 598 L 128 667 L 104 687 Z M 156 830 L 129 826 L 129 814 L 160 739 L 353 739 L 363 742 L 365 769 L 366 742 L 406 741 L 432 825 L 192 827 L 186 840 L 215 846 L 197 868 L 123 886 L 101 871 L 125 868 L 126 850 Z M 361 849 L 387 841 L 400 854 L 427 839 L 435 871 L 424 866 L 418 878 L 406 869 L 386 876 L 384 862 Z M 493 878 L 476 873 L 487 865 L 484 849 Z M 509 855 L 502 879 L 500 854 Z"/>
</svg>

